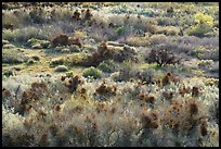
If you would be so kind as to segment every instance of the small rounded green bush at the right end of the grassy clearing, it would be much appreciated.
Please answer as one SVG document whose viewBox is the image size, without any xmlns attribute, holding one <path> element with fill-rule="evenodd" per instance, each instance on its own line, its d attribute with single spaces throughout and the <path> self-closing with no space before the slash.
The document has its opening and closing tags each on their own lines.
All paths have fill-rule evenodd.
<svg viewBox="0 0 221 149">
<path fill-rule="evenodd" d="M 98 69 L 91 66 L 91 67 L 88 67 L 88 69 L 86 69 L 86 70 L 83 71 L 82 76 L 84 76 L 84 77 L 91 76 L 91 77 L 93 77 L 94 79 L 101 78 L 101 77 L 102 77 L 102 71 L 100 71 L 100 70 L 98 70 Z"/>
</svg>

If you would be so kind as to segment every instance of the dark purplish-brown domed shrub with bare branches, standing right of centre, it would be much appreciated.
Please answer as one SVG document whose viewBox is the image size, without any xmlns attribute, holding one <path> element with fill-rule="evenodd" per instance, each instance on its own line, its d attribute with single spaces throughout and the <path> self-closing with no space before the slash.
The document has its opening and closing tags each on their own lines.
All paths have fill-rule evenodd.
<svg viewBox="0 0 221 149">
<path fill-rule="evenodd" d="M 145 60 L 148 63 L 156 62 L 158 65 L 164 66 L 167 64 L 178 64 L 179 59 L 172 52 L 169 52 L 167 49 L 161 50 L 151 50 L 150 54 Z"/>
</svg>

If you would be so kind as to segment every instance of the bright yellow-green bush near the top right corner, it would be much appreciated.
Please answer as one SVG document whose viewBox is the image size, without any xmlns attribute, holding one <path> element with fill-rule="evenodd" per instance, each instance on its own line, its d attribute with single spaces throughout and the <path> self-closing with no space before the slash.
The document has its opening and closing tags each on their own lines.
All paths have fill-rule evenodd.
<svg viewBox="0 0 221 149">
<path fill-rule="evenodd" d="M 197 13 L 194 16 L 196 25 L 186 32 L 188 36 L 204 37 L 213 27 L 213 18 L 207 14 Z"/>
</svg>

